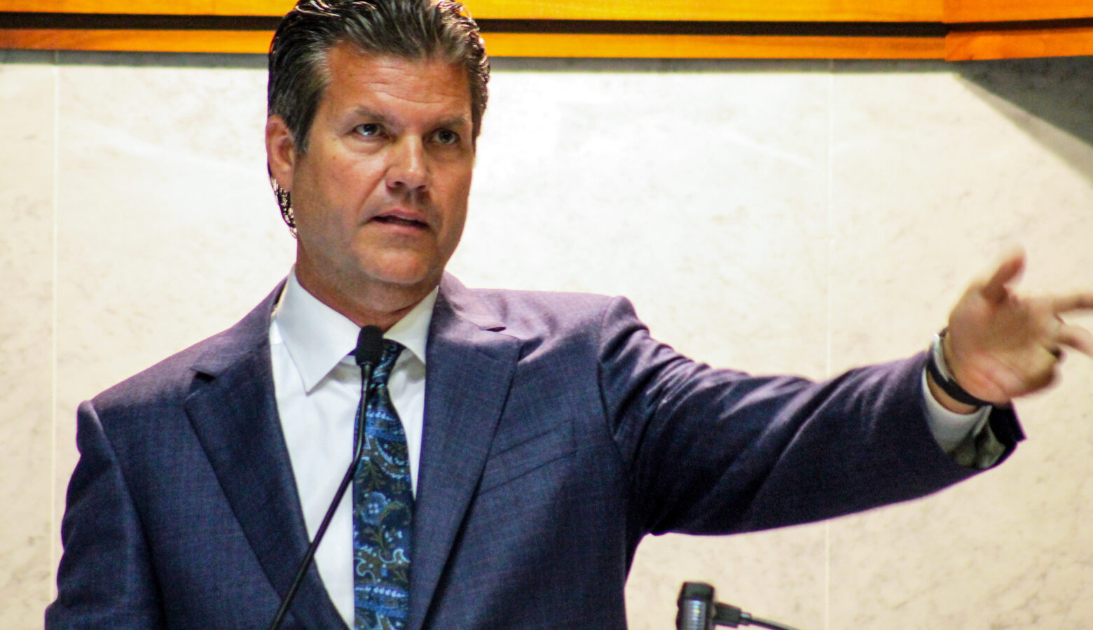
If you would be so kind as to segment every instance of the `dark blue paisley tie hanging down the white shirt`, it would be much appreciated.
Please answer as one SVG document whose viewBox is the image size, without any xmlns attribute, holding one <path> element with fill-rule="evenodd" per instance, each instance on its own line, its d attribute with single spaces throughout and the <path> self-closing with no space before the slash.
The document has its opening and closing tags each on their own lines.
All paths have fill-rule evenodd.
<svg viewBox="0 0 1093 630">
<path fill-rule="evenodd" d="M 384 340 L 384 356 L 368 381 L 364 454 L 353 477 L 355 630 L 402 630 L 410 611 L 410 460 L 387 391 L 401 350 Z"/>
</svg>

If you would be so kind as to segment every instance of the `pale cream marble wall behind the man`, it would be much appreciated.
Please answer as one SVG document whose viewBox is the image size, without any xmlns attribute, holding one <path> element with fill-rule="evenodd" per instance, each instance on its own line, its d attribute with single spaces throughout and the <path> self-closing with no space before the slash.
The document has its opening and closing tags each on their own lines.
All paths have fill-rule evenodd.
<svg viewBox="0 0 1093 630">
<path fill-rule="evenodd" d="M 284 274 L 265 60 L 0 51 L 0 627 L 42 625 L 77 404 Z M 1093 286 L 1093 59 L 495 62 L 472 286 L 624 294 L 715 365 L 823 378 L 910 354 L 1013 243 Z M 1076 318 L 1086 324 L 1093 319 Z M 684 580 L 802 629 L 1093 619 L 1093 361 L 1020 405 L 997 471 L 866 514 L 638 551 L 631 627 Z"/>
</svg>

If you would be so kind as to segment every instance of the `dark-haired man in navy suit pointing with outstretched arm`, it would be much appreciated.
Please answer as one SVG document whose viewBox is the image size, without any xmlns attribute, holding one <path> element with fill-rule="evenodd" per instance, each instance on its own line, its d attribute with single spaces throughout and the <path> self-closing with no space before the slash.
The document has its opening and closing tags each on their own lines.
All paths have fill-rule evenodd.
<svg viewBox="0 0 1093 630">
<path fill-rule="evenodd" d="M 266 135 L 296 264 L 228 331 L 81 405 L 47 626 L 267 627 L 350 465 L 361 326 L 402 348 L 369 378 L 369 454 L 284 627 L 622 628 L 645 534 L 940 489 L 1013 449 L 1008 404 L 1060 348 L 1093 353 L 1058 319 L 1093 296 L 1015 296 L 1020 255 L 931 353 L 824 383 L 693 362 L 623 299 L 462 287 L 444 266 L 489 66 L 459 11 L 312 0 L 286 16 Z M 376 515 L 407 501 L 409 524 Z"/>
</svg>

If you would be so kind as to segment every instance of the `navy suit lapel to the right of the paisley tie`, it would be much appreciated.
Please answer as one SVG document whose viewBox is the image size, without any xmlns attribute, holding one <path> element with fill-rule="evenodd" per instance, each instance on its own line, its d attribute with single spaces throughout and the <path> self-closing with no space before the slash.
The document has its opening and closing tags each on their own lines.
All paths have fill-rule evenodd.
<svg viewBox="0 0 1093 630">
<path fill-rule="evenodd" d="M 425 622 L 508 393 L 518 340 L 474 313 L 450 276 L 440 284 L 426 349 L 425 427 L 414 503 L 410 630 Z"/>
</svg>

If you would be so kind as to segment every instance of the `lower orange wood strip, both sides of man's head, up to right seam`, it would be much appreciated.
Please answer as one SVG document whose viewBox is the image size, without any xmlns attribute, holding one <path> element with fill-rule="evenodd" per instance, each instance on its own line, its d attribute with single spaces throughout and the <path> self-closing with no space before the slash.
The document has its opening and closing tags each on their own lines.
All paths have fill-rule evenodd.
<svg viewBox="0 0 1093 630">
<path fill-rule="evenodd" d="M 0 29 L 0 48 L 265 54 L 272 36 L 261 31 Z M 945 54 L 941 37 L 491 33 L 485 40 L 491 57 L 942 59 Z"/>
</svg>

